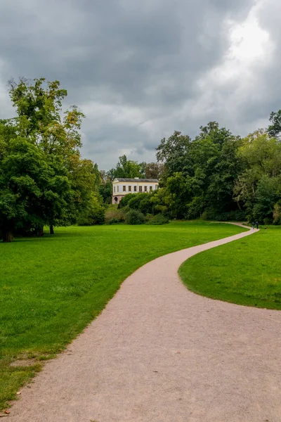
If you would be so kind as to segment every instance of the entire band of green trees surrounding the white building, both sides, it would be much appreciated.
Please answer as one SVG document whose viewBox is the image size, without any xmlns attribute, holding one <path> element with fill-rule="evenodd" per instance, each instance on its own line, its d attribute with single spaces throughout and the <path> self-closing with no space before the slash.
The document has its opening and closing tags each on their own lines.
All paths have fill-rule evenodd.
<svg viewBox="0 0 281 422">
<path fill-rule="evenodd" d="M 251 219 L 281 223 L 281 110 L 244 139 L 216 122 L 191 139 L 174 132 L 157 162 L 125 155 L 105 172 L 80 155 L 83 113 L 63 111 L 67 91 L 44 78 L 9 82 L 15 117 L 0 120 L 0 236 L 42 236 L 44 226 L 162 224 L 168 219 Z M 110 209 L 115 177 L 157 178 L 153 193 Z M 113 212 L 113 214 L 112 214 Z M 109 217 L 106 217 L 106 213 Z M 111 214 L 110 214 L 111 213 Z"/>
</svg>

